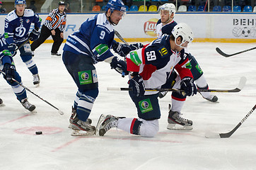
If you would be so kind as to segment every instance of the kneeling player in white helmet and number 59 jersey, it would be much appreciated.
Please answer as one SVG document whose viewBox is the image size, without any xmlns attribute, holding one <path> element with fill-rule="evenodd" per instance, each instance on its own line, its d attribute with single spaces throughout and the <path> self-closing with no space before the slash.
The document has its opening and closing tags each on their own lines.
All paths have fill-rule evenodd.
<svg viewBox="0 0 256 170">
<path fill-rule="evenodd" d="M 127 55 L 127 70 L 129 71 L 129 96 L 134 102 L 139 118 L 117 118 L 112 115 L 101 115 L 96 130 L 103 136 L 110 128 L 119 128 L 134 135 L 153 137 L 158 132 L 158 119 L 161 111 L 158 103 L 158 91 L 145 91 L 145 88 L 160 88 L 172 72 L 175 74 L 173 92 L 177 99 L 169 111 L 168 128 L 192 129 L 192 120 L 180 116 L 182 105 L 186 96 L 197 94 L 192 73 L 186 65 L 189 60 L 184 60 L 184 50 L 192 42 L 192 30 L 185 23 L 178 23 L 173 28 L 172 35 L 164 35 L 154 40 L 148 46 L 134 50 Z"/>
</svg>

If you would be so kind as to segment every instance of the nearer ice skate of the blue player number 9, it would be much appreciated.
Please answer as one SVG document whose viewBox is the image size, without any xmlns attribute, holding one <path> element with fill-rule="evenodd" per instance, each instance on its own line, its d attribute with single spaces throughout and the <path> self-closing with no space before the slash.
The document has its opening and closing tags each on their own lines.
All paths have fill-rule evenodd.
<svg viewBox="0 0 256 170">
<path fill-rule="evenodd" d="M 82 121 L 78 118 L 74 118 L 72 129 L 74 130 L 74 132 L 71 133 L 72 136 L 87 136 L 95 134 L 95 126 L 92 126 L 88 119 L 86 121 Z"/>
</svg>

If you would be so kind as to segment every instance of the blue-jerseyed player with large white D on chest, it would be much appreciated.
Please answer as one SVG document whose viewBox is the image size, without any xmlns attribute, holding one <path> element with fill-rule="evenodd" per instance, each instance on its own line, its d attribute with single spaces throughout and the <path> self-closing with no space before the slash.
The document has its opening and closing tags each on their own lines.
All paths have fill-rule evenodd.
<svg viewBox="0 0 256 170">
<path fill-rule="evenodd" d="M 31 38 L 31 40 L 34 41 L 37 40 L 40 35 L 39 28 L 42 21 L 41 18 L 31 9 L 25 9 L 25 6 L 25 0 L 16 0 L 16 9 L 6 16 L 4 32 L 8 45 L 13 43 L 21 45 L 25 40 L 28 40 L 28 38 Z M 34 23 L 35 28 L 29 33 L 31 23 Z M 27 42 L 21 47 L 20 53 L 21 59 L 33 74 L 33 84 L 39 86 L 40 78 L 38 76 L 37 66 L 32 59 L 30 42 Z"/>
</svg>

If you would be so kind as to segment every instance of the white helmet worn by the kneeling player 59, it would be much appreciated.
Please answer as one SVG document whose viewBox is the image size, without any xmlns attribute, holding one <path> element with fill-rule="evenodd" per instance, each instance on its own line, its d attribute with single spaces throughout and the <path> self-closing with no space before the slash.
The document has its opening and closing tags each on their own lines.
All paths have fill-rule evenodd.
<svg viewBox="0 0 256 170">
<path fill-rule="evenodd" d="M 175 44 L 177 44 L 176 39 L 180 36 L 182 37 L 182 42 L 180 45 L 178 45 L 179 47 L 182 47 L 181 45 L 183 43 L 187 42 L 192 42 L 194 35 L 192 32 L 192 29 L 190 28 L 190 26 L 188 26 L 186 23 L 178 23 L 172 30 L 172 34 L 175 38 Z"/>
</svg>

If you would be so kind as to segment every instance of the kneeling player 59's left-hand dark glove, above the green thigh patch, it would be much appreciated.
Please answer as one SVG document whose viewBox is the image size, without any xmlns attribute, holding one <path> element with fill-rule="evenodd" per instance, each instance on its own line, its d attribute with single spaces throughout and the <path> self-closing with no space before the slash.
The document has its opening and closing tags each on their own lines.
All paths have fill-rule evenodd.
<svg viewBox="0 0 256 170">
<path fill-rule="evenodd" d="M 132 94 L 137 97 L 144 96 L 145 85 L 142 77 L 138 74 L 128 81 L 129 86 L 132 88 Z"/>
</svg>

